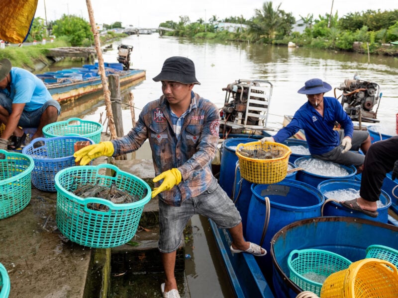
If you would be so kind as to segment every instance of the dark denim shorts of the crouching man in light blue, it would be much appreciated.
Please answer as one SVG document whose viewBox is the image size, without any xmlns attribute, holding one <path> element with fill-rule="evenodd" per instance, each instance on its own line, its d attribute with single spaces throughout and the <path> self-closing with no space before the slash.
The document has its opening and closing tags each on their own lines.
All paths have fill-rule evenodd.
<svg viewBox="0 0 398 298">
<path fill-rule="evenodd" d="M 8 114 L 11 114 L 12 112 L 11 104 L 12 101 L 9 97 L 0 96 L 0 106 L 5 108 L 8 111 Z M 18 126 L 22 128 L 38 127 L 41 115 L 49 106 L 56 107 L 58 110 L 58 115 L 61 113 L 61 105 L 59 104 L 59 102 L 51 99 L 46 101 L 39 109 L 35 111 L 22 111 L 21 117 L 19 118 Z"/>
</svg>

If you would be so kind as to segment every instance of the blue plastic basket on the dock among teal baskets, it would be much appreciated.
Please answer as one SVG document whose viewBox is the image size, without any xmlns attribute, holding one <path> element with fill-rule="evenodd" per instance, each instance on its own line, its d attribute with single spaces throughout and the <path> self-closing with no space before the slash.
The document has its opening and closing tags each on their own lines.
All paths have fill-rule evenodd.
<svg viewBox="0 0 398 298">
<path fill-rule="evenodd" d="M 36 144 L 43 142 L 43 146 L 34 148 Z M 55 192 L 55 175 L 62 169 L 74 166 L 76 142 L 93 141 L 84 137 L 55 137 L 36 138 L 22 149 L 22 153 L 33 158 L 32 171 L 33 185 L 42 191 Z"/>
</svg>

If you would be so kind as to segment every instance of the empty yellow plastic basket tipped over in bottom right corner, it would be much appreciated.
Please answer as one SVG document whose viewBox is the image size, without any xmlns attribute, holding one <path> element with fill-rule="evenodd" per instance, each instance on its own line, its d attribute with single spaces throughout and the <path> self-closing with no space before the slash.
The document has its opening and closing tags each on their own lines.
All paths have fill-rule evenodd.
<svg viewBox="0 0 398 298">
<path fill-rule="evenodd" d="M 391 262 L 374 258 L 352 263 L 323 283 L 321 298 L 396 298 L 398 272 Z"/>
</svg>

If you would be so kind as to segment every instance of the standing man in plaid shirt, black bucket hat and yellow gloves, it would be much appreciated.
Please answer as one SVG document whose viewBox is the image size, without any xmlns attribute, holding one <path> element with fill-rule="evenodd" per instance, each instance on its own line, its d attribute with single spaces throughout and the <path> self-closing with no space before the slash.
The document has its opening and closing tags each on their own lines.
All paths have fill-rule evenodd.
<svg viewBox="0 0 398 298">
<path fill-rule="evenodd" d="M 166 275 L 161 290 L 164 298 L 177 298 L 176 250 L 184 241 L 184 227 L 193 215 L 204 215 L 227 228 L 234 253 L 264 256 L 266 250 L 244 240 L 239 212 L 211 173 L 219 113 L 213 103 L 192 91 L 195 84 L 200 84 L 194 62 L 185 57 L 168 58 L 153 80 L 162 82 L 163 95 L 143 108 L 127 136 L 88 146 L 74 156 L 84 165 L 100 155 L 135 151 L 149 139 L 157 175 L 152 198 L 159 198 L 158 247 Z"/>
</svg>

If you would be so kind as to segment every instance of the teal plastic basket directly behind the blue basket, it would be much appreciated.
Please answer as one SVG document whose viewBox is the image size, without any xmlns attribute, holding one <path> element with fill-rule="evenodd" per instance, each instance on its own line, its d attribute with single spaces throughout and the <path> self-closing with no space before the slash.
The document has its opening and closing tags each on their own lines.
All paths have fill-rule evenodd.
<svg viewBox="0 0 398 298">
<path fill-rule="evenodd" d="M 94 121 L 82 120 L 80 118 L 69 118 L 47 124 L 43 127 L 45 138 L 80 136 L 93 140 L 95 144 L 101 141 L 102 124 Z"/>
</svg>

